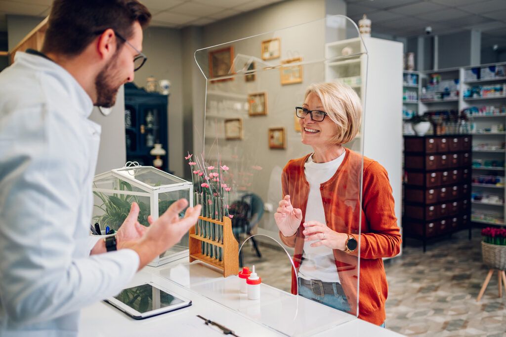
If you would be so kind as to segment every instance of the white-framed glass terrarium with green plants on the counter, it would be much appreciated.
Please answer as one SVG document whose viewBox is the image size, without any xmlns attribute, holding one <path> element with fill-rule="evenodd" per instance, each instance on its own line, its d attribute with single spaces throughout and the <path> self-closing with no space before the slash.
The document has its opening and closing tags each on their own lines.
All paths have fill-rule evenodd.
<svg viewBox="0 0 506 337">
<path fill-rule="evenodd" d="M 102 229 L 117 230 L 130 212 L 133 202 L 139 205 L 139 222 L 148 226 L 148 215 L 157 219 L 175 201 L 185 198 L 193 207 L 191 182 L 152 166 L 125 166 L 96 175 L 93 180 L 93 221 Z M 182 214 L 183 215 L 183 214 Z M 188 234 L 181 241 L 149 263 L 159 266 L 188 256 Z"/>
</svg>

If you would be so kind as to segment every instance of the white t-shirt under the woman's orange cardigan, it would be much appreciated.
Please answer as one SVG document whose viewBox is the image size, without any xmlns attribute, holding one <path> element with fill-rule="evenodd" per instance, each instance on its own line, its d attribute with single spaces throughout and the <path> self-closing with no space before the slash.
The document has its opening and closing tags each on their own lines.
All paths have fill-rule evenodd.
<svg viewBox="0 0 506 337">
<path fill-rule="evenodd" d="M 304 164 L 304 173 L 309 182 L 308 204 L 306 206 L 305 221 L 326 223 L 323 202 L 321 200 L 320 184 L 329 180 L 338 170 L 345 158 L 346 151 L 341 156 L 326 163 L 313 162 L 312 155 Z M 339 282 L 338 270 L 335 267 L 332 249 L 320 246 L 311 247 L 316 241 L 304 242 L 303 261 L 299 268 L 299 277 L 317 279 L 324 282 Z"/>
</svg>

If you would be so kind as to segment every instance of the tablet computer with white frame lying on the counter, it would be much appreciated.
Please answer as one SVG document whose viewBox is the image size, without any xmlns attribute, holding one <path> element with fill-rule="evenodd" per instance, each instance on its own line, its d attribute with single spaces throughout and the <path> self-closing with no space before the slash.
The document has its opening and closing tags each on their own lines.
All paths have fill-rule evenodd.
<svg viewBox="0 0 506 337">
<path fill-rule="evenodd" d="M 153 282 L 126 288 L 104 302 L 135 319 L 144 319 L 191 306 L 191 301 L 162 289 Z"/>
</svg>

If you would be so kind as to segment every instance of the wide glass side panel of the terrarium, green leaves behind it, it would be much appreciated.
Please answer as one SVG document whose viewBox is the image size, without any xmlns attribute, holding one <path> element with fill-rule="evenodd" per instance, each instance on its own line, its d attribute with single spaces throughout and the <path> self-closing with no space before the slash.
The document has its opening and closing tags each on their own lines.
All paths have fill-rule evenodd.
<svg viewBox="0 0 506 337">
<path fill-rule="evenodd" d="M 150 197 L 100 191 L 94 191 L 93 195 L 93 221 L 98 222 L 101 229 L 109 226 L 111 229 L 118 230 L 128 216 L 133 202 L 136 202 L 140 208 L 139 222 L 148 226 L 148 215 L 151 214 Z"/>
</svg>

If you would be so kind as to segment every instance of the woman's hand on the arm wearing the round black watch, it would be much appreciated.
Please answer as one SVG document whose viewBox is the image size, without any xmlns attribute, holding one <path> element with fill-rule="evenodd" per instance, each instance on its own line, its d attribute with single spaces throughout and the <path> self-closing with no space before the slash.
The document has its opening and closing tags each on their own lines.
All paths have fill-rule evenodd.
<svg viewBox="0 0 506 337">
<path fill-rule="evenodd" d="M 333 231 L 327 225 L 318 221 L 304 222 L 303 225 L 304 231 L 302 233 L 306 236 L 304 241 L 316 241 L 311 244 L 311 247 L 325 246 L 340 251 L 346 249 L 347 234 Z"/>
</svg>

